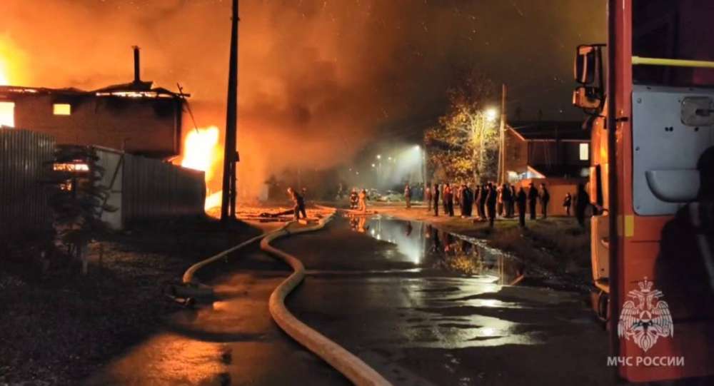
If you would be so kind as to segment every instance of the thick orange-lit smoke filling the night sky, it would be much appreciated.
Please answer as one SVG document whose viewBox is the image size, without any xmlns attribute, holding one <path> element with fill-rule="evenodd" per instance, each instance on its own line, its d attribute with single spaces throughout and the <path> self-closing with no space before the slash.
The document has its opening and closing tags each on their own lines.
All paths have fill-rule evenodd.
<svg viewBox="0 0 714 386">
<path fill-rule="evenodd" d="M 180 82 L 198 126 L 223 128 L 230 3 L 2 0 L 0 58 L 12 83 L 91 89 L 130 81 L 139 45 L 144 80 Z M 434 118 L 456 66 L 511 84 L 525 118 L 576 117 L 571 56 L 603 40 L 605 20 L 603 4 L 579 0 L 243 0 L 240 14 L 248 194 L 269 173 L 347 163 L 368 141 Z"/>
</svg>

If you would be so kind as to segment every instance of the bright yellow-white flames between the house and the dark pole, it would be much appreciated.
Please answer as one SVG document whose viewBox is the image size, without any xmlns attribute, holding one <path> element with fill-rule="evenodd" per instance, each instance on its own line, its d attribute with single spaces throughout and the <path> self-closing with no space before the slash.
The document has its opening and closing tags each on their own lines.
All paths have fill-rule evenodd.
<svg viewBox="0 0 714 386">
<path fill-rule="evenodd" d="M 206 185 L 213 179 L 218 168 L 221 148 L 218 143 L 218 128 L 210 126 L 191 130 L 183 141 L 181 166 L 206 173 Z M 221 192 L 206 192 L 206 210 L 221 205 Z"/>
</svg>

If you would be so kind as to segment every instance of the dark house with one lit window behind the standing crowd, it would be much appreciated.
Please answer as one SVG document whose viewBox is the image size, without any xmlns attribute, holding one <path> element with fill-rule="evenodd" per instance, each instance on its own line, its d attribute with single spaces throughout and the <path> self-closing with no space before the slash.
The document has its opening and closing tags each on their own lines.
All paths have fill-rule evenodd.
<svg viewBox="0 0 714 386">
<path fill-rule="evenodd" d="M 590 166 L 590 132 L 582 122 L 513 122 L 506 128 L 506 173 L 527 178 L 585 181 Z"/>
</svg>

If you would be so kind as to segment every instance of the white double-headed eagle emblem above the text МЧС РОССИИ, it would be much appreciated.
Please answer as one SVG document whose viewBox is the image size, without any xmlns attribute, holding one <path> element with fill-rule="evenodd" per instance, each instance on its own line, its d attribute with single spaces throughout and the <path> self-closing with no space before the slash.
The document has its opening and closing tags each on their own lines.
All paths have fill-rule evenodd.
<svg viewBox="0 0 714 386">
<path fill-rule="evenodd" d="M 652 288 L 653 283 L 647 278 L 638 282 L 639 290 L 631 290 L 628 300 L 620 312 L 618 336 L 625 340 L 632 338 L 635 345 L 647 352 L 660 337 L 674 335 L 674 324 L 669 305 L 660 290 Z"/>
</svg>

